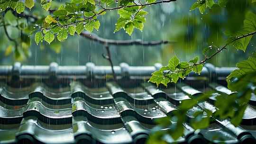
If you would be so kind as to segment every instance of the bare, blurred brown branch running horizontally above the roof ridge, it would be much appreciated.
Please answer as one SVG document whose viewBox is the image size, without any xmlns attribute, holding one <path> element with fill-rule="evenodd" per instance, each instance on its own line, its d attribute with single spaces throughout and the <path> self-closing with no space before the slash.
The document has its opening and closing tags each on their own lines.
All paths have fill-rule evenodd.
<svg viewBox="0 0 256 144">
<path fill-rule="evenodd" d="M 92 41 L 98 42 L 102 45 L 144 45 L 144 46 L 154 46 L 154 45 L 162 45 L 162 44 L 170 44 L 175 43 L 174 41 L 167 41 L 167 40 L 161 40 L 161 41 L 142 41 L 140 39 L 136 40 L 113 40 L 113 39 L 105 39 L 102 37 L 97 36 L 96 34 L 92 34 L 89 32 L 82 32 L 80 36 L 83 36 L 85 38 L 88 38 Z"/>
</svg>

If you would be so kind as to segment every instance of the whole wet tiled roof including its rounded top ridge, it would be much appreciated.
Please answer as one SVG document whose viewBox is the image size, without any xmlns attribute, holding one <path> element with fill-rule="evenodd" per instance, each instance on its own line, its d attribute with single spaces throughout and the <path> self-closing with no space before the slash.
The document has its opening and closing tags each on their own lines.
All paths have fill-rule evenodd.
<svg viewBox="0 0 256 144">
<path fill-rule="evenodd" d="M 118 81 L 111 81 L 111 68 L 93 63 L 0 66 L 0 143 L 143 144 L 155 131 L 155 119 L 171 115 L 189 96 L 215 90 L 210 99 L 188 111 L 190 119 L 198 110 L 214 112 L 219 93 L 234 93 L 225 83 L 234 68 L 206 64 L 201 75 L 190 73 L 175 85 L 157 88 L 147 80 L 160 67 L 121 63 L 114 67 Z M 216 119 L 195 132 L 184 123 L 184 135 L 176 142 L 249 144 L 256 137 L 255 108 L 252 95 L 238 127 Z M 171 137 L 166 141 L 174 142 Z"/>
</svg>

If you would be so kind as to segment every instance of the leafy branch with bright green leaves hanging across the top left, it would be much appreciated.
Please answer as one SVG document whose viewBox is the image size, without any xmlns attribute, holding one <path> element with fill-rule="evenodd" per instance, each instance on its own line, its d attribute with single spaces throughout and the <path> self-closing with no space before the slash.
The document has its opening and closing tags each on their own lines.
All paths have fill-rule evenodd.
<svg viewBox="0 0 256 144">
<path fill-rule="evenodd" d="M 59 41 L 64 41 L 68 34 L 73 36 L 75 32 L 80 35 L 83 30 L 88 32 L 98 30 L 101 23 L 97 17 L 112 10 L 118 10 L 119 14 L 114 33 L 124 29 L 126 33 L 132 35 L 134 28 L 143 30 L 145 16 L 148 14 L 143 10 L 146 6 L 171 1 L 176 0 L 71 0 L 60 5 L 58 9 L 50 10 L 54 1 L 41 0 L 41 7 L 46 11 L 50 10 L 52 14 L 46 16 L 39 26 L 35 42 L 39 44 L 46 41 L 50 44 L 55 37 Z M 34 5 L 34 0 L 1 0 L 0 11 L 11 8 L 20 14 L 26 7 L 32 9 Z"/>
</svg>

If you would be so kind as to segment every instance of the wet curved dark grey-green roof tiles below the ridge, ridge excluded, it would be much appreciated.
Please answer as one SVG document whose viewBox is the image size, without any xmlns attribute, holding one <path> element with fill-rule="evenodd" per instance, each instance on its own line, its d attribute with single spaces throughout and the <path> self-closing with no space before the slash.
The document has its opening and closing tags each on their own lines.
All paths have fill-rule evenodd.
<svg viewBox="0 0 256 144">
<path fill-rule="evenodd" d="M 212 113 L 213 103 L 219 93 L 233 94 L 226 87 L 212 83 L 207 90 L 214 90 L 212 97 L 198 103 L 187 112 L 187 117 L 205 110 Z M 181 101 L 201 94 L 185 83 L 168 88 L 142 82 L 134 87 L 106 82 L 105 85 L 89 87 L 73 82 L 63 88 L 52 88 L 43 83 L 14 88 L 0 87 L 0 143 L 75 144 L 143 144 L 155 131 L 155 120 L 171 116 Z M 253 98 L 252 100 L 253 101 Z M 256 136 L 255 106 L 248 105 L 242 125 L 234 127 L 228 120 L 213 121 L 209 128 L 195 134 L 185 125 L 183 137 L 177 143 L 187 143 L 191 135 L 200 134 L 212 143 L 236 144 L 241 135 Z M 158 129 L 159 130 L 159 129 Z M 168 130 L 168 128 L 160 129 Z M 174 142 L 165 137 L 167 142 Z"/>
</svg>

